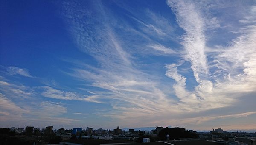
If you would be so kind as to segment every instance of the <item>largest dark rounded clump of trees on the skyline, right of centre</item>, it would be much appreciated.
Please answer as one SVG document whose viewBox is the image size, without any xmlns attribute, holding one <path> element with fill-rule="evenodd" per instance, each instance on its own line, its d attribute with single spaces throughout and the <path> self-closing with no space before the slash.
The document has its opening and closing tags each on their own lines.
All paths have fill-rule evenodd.
<svg viewBox="0 0 256 145">
<path fill-rule="evenodd" d="M 180 139 L 180 138 L 197 138 L 197 134 L 191 132 L 191 131 L 186 131 L 185 128 L 163 128 L 159 133 L 158 133 L 158 137 L 160 140 L 167 140 L 167 134 L 169 134 L 170 136 L 170 140 L 173 139 Z"/>
</svg>

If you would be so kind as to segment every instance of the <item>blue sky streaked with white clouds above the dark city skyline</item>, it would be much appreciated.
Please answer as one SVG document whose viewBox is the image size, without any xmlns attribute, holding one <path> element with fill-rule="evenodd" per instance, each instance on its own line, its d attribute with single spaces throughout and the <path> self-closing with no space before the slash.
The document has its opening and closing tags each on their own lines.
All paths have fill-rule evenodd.
<svg viewBox="0 0 256 145">
<path fill-rule="evenodd" d="M 0 127 L 256 128 L 256 1 L 1 0 Z"/>
</svg>

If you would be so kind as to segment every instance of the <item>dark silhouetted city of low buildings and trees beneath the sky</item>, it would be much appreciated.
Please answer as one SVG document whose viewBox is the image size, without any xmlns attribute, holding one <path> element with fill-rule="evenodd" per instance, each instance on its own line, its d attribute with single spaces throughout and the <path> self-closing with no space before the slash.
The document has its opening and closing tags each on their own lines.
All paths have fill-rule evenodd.
<svg viewBox="0 0 256 145">
<path fill-rule="evenodd" d="M 148 130 L 133 128 L 96 129 L 86 127 L 53 130 L 46 128 L 0 128 L 1 145 L 123 145 L 123 144 L 152 144 L 152 145 L 256 145 L 256 132 L 228 132 L 221 128 L 209 132 L 197 132 L 185 128 L 155 127 Z M 15 140 L 16 139 L 16 140 Z"/>
</svg>

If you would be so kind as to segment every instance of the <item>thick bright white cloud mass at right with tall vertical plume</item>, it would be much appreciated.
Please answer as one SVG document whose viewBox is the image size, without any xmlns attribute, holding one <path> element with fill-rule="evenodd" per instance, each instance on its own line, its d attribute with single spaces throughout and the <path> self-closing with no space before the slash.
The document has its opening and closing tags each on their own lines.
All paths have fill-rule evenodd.
<svg viewBox="0 0 256 145">
<path fill-rule="evenodd" d="M 255 28 L 253 26 L 243 28 L 243 33 L 246 33 L 234 40 L 230 47 L 222 48 L 219 52 L 215 51 L 219 55 L 215 55 L 215 60 L 212 62 L 215 63 L 214 67 L 218 67 L 218 69 L 212 75 L 209 71 L 205 52 L 207 42 L 205 35 L 207 29 L 212 29 L 209 27 L 210 25 L 214 28 L 219 27 L 217 18 L 214 17 L 211 20 L 207 20 L 207 17 L 203 16 L 200 12 L 200 6 L 195 6 L 198 3 L 193 3 L 189 0 L 169 0 L 167 3 L 175 12 L 180 27 L 186 31 L 186 34 L 181 37 L 183 39 L 181 44 L 187 53 L 184 58 L 191 62 L 195 80 L 199 83 L 195 87 L 195 91 L 186 91 L 184 89 L 186 87 L 186 78 L 177 73 L 178 70 L 175 64 L 167 65 L 166 76 L 173 78 L 177 82 L 177 84 L 173 85 L 176 96 L 179 98 L 183 97 L 181 101 L 192 104 L 196 103 L 198 107 L 195 107 L 195 109 L 199 111 L 203 108 L 212 109 L 227 106 L 227 104 L 225 105 L 225 103 L 221 103 L 219 100 L 234 102 L 233 98 L 239 96 L 235 94 L 228 96 L 227 94 L 233 92 L 252 92 L 253 88 L 255 88 L 255 79 L 253 79 L 255 71 L 254 67 L 252 67 L 255 60 Z M 244 73 L 241 72 L 241 69 L 244 69 Z M 225 77 L 227 72 L 229 74 Z M 251 72 L 250 75 L 248 75 L 249 72 Z M 220 78 L 221 74 L 225 81 Z M 209 80 L 212 76 L 215 77 L 216 84 Z M 247 79 L 249 77 L 252 78 L 250 81 Z M 184 96 L 186 97 L 184 98 Z"/>
</svg>

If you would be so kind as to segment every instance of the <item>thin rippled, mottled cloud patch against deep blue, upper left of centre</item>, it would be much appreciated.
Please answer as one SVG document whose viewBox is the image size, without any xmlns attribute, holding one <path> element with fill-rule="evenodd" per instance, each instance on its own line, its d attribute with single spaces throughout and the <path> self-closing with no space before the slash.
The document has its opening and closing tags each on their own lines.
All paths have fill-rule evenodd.
<svg viewBox="0 0 256 145">
<path fill-rule="evenodd" d="M 72 5 L 70 5 L 72 3 Z M 76 5 L 76 1 L 62 3 L 62 16 L 70 24 L 70 31 L 81 51 L 89 53 L 105 65 L 131 65 L 130 56 L 126 53 L 111 27 L 111 17 L 107 17 L 107 10 L 100 2 L 95 5 L 98 19 L 92 11 Z M 77 7 L 74 7 L 77 6 Z M 81 23 L 82 15 L 87 17 L 87 23 Z M 92 27 L 93 25 L 93 27 Z"/>
</svg>

